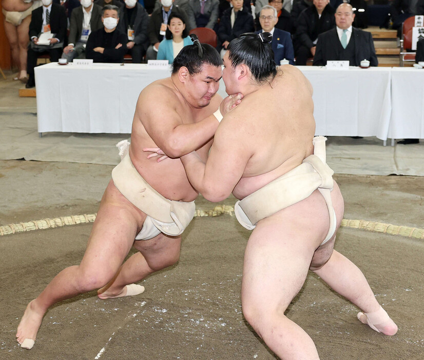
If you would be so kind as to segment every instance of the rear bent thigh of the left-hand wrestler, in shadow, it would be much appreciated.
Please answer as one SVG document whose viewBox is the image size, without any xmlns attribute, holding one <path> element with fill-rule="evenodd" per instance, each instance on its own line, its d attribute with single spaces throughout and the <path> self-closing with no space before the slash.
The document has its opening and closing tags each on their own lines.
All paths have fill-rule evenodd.
<svg viewBox="0 0 424 360">
<path fill-rule="evenodd" d="M 159 270 L 175 264 L 180 258 L 181 236 L 168 236 L 160 233 L 150 240 L 134 242 L 152 270 Z"/>
</svg>

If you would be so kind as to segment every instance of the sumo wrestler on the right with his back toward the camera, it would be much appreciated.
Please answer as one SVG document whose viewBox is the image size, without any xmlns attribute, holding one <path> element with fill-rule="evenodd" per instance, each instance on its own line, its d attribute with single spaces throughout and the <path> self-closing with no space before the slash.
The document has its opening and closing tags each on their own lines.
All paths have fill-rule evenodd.
<svg viewBox="0 0 424 360">
<path fill-rule="evenodd" d="M 296 67 L 276 68 L 271 40 L 265 32 L 229 43 L 222 77 L 243 101 L 222 119 L 207 162 L 196 151 L 181 161 L 209 201 L 241 199 L 237 219 L 253 230 L 241 290 L 246 320 L 281 359 L 318 360 L 311 337 L 284 315 L 308 270 L 359 307 L 362 323 L 386 335 L 397 326 L 362 272 L 333 250 L 343 197 L 325 164 L 325 138 L 314 138 L 312 86 Z"/>
</svg>

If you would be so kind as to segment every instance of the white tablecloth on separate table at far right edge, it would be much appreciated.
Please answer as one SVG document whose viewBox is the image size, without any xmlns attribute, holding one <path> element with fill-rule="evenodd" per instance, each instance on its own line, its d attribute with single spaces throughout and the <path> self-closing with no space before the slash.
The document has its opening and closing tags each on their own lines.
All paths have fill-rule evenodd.
<svg viewBox="0 0 424 360">
<path fill-rule="evenodd" d="M 392 69 L 389 137 L 424 138 L 424 69 Z"/>
</svg>

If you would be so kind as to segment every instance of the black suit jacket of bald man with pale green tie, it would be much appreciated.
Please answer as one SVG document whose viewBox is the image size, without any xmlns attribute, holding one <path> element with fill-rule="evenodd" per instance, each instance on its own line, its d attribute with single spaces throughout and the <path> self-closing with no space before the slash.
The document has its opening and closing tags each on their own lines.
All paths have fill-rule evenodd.
<svg viewBox="0 0 424 360">
<path fill-rule="evenodd" d="M 356 61 L 356 64 L 350 64 L 351 66 L 359 66 L 363 59 L 367 59 L 371 66 L 378 66 L 373 37 L 370 32 L 353 27 L 349 42 L 351 41 L 355 44 Z M 318 35 L 314 65 L 325 65 L 328 60 L 340 60 L 339 44 L 337 29 L 331 29 Z"/>
</svg>

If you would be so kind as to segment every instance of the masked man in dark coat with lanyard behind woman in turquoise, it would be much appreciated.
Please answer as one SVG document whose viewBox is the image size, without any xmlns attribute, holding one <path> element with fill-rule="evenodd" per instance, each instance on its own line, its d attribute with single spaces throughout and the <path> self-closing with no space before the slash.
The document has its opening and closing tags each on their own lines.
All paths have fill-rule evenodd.
<svg viewBox="0 0 424 360">
<path fill-rule="evenodd" d="M 160 9 L 153 10 L 149 19 L 148 33 L 150 46 L 146 52 L 147 60 L 156 59 L 159 44 L 165 36 L 169 15 L 171 13 L 178 15 L 180 18 L 184 18 L 187 30 L 191 30 L 188 26 L 187 13 L 180 9 L 177 5 L 174 5 L 174 0 L 161 0 L 161 4 L 162 7 Z"/>
</svg>

